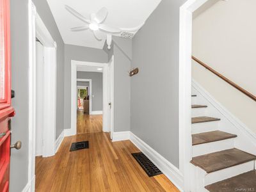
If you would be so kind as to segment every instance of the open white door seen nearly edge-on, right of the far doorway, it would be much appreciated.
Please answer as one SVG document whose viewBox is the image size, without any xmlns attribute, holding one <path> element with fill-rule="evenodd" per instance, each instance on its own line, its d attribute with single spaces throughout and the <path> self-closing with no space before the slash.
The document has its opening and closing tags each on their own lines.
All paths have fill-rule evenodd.
<svg viewBox="0 0 256 192">
<path fill-rule="evenodd" d="M 113 118 L 114 118 L 114 102 L 113 102 L 113 82 L 114 82 L 114 76 L 113 76 L 113 57 L 111 59 L 111 61 L 109 61 L 109 131 L 110 131 L 110 138 L 112 140 L 113 138 L 113 130 L 114 130 L 114 122 L 113 122 Z"/>
</svg>

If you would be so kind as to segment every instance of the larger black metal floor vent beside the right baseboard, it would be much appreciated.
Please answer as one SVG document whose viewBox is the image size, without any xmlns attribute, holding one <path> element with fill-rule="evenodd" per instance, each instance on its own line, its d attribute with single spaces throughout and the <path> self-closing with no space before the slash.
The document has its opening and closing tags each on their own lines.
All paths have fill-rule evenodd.
<svg viewBox="0 0 256 192">
<path fill-rule="evenodd" d="M 157 167 L 154 165 L 147 156 L 142 152 L 134 153 L 132 156 L 140 164 L 143 170 L 147 173 L 148 177 L 153 177 L 156 175 L 163 174 Z"/>
</svg>

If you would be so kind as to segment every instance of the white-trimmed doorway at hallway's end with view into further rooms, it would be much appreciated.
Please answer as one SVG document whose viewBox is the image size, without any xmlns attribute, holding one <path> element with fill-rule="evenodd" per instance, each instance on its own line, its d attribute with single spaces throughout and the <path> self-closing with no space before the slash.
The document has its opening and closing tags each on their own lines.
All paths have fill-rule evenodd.
<svg viewBox="0 0 256 192">
<path fill-rule="evenodd" d="M 71 129 L 66 135 L 103 131 L 112 138 L 113 65 L 113 58 L 109 63 L 71 61 Z M 86 88 L 83 95 L 81 87 Z"/>
</svg>

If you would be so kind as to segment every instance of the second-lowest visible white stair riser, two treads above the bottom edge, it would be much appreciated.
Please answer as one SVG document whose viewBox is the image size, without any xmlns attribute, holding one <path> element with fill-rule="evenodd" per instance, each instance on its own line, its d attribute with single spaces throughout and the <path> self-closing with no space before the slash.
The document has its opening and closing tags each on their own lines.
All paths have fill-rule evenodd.
<svg viewBox="0 0 256 192">
<path fill-rule="evenodd" d="M 193 157 L 196 157 L 230 148 L 234 148 L 234 138 L 221 141 L 214 141 L 211 143 L 193 145 L 192 151 Z"/>
</svg>

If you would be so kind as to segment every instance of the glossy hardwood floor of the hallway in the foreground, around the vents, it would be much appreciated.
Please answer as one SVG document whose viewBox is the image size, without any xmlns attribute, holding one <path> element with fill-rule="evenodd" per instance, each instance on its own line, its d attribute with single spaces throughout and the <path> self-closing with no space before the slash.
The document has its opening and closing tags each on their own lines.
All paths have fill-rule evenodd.
<svg viewBox="0 0 256 192">
<path fill-rule="evenodd" d="M 71 143 L 90 148 L 69 152 Z M 148 177 L 131 156 L 131 141 L 112 143 L 106 132 L 64 138 L 56 156 L 36 157 L 36 191 L 179 191 L 164 175 Z"/>
</svg>

